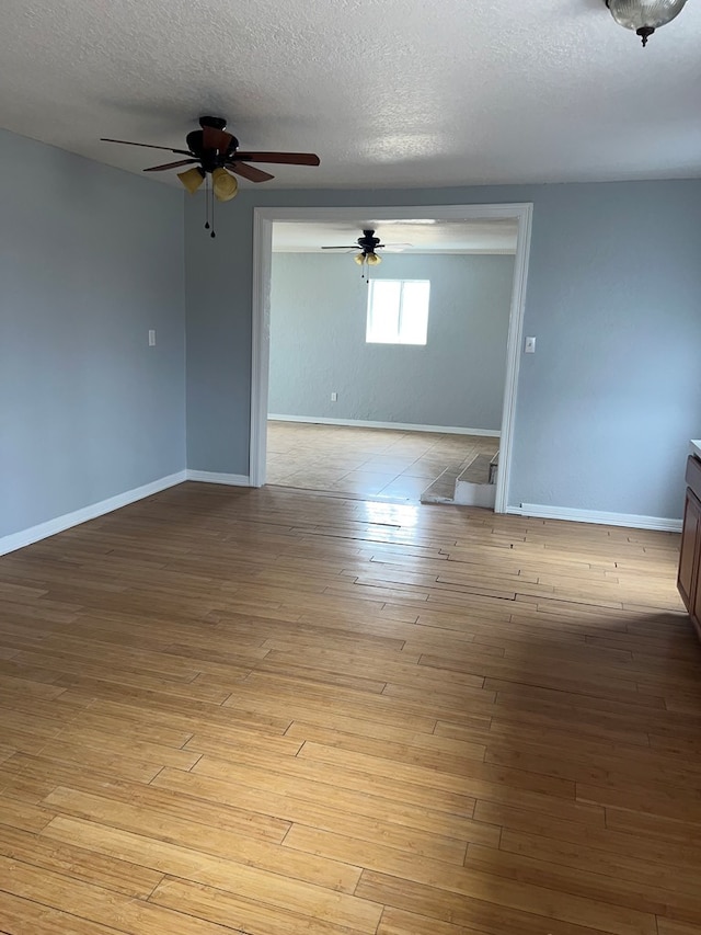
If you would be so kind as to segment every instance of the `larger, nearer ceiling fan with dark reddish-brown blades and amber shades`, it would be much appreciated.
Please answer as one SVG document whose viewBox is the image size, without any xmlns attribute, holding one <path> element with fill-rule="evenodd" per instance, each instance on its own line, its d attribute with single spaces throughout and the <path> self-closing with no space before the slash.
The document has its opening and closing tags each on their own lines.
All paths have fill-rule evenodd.
<svg viewBox="0 0 701 935">
<path fill-rule="evenodd" d="M 288 166 L 319 166 L 321 160 L 313 152 L 251 152 L 240 150 L 239 140 L 227 133 L 227 122 L 223 117 L 200 117 L 202 129 L 192 130 L 185 137 L 186 149 L 173 149 L 170 146 L 154 146 L 150 142 L 133 142 L 128 139 L 110 139 L 101 137 L 102 142 L 119 142 L 125 146 L 142 146 L 147 149 L 163 149 L 176 156 L 187 157 L 175 162 L 164 162 L 162 166 L 149 166 L 145 172 L 163 172 L 166 169 L 180 169 L 181 166 L 192 166 L 184 172 L 179 172 L 177 178 L 185 189 L 193 194 L 203 182 L 211 178 L 211 212 L 214 217 L 214 198 L 219 202 L 228 202 L 234 197 L 239 190 L 239 183 L 234 175 L 241 175 L 249 182 L 269 182 L 274 179 L 269 172 L 264 172 L 251 162 L 277 162 Z M 232 174 L 233 173 L 233 174 Z M 209 198 L 207 199 L 209 203 Z M 209 206 L 207 207 L 206 228 L 209 228 Z M 214 232 L 214 219 L 211 237 Z"/>
</svg>

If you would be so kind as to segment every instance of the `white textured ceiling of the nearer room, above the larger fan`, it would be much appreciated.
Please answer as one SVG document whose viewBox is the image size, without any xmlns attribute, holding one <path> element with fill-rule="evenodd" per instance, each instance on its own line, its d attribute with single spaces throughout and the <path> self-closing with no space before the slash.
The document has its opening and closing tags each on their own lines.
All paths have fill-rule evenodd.
<svg viewBox="0 0 701 935">
<path fill-rule="evenodd" d="M 688 178 L 700 46 L 699 0 L 646 49 L 604 0 L 2 0 L 0 125 L 135 172 L 168 155 L 99 137 L 203 113 L 321 156 L 268 186 Z"/>
</svg>

